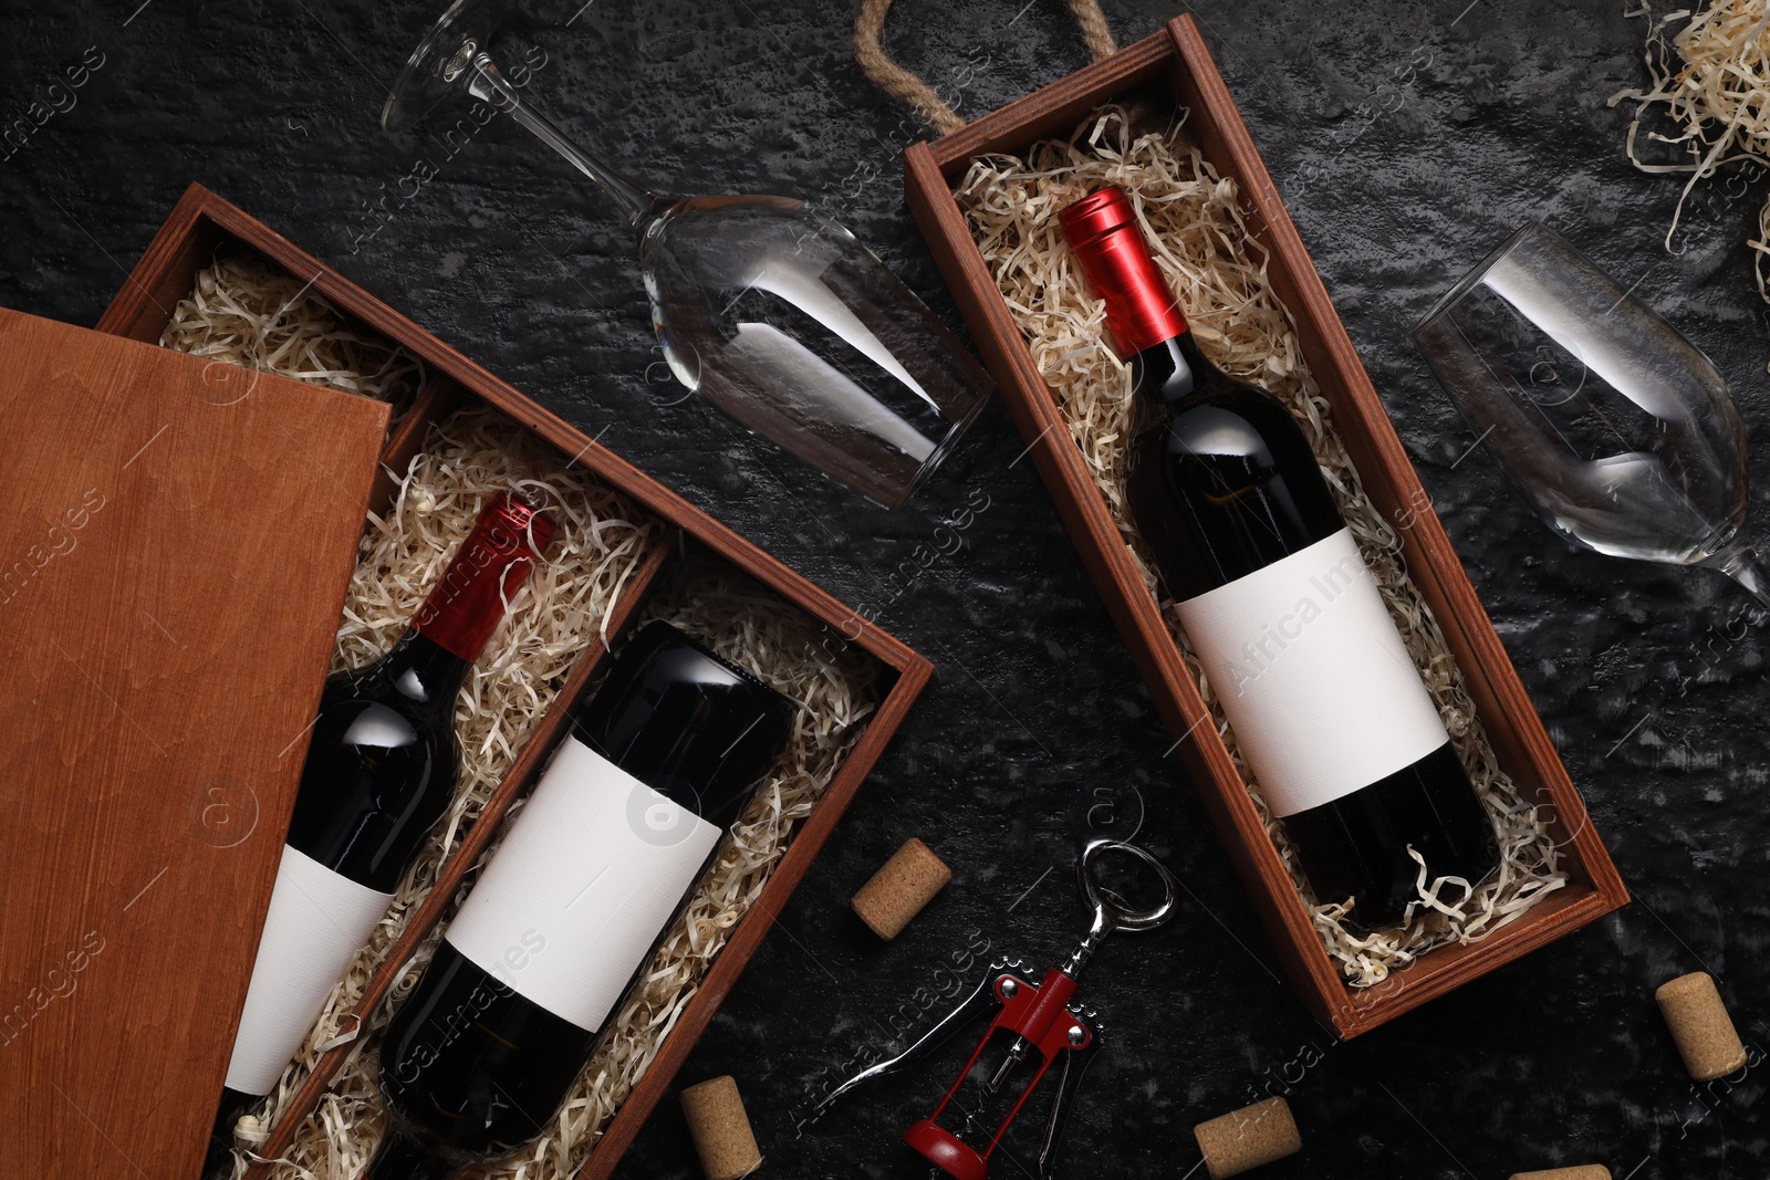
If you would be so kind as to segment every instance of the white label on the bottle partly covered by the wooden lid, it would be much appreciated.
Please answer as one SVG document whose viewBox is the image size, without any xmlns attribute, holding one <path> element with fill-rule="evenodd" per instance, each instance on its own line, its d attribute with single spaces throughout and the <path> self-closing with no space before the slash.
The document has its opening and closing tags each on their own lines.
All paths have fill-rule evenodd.
<svg viewBox="0 0 1770 1180">
<path fill-rule="evenodd" d="M 358 885 L 283 846 L 227 1067 L 232 1090 L 271 1093 L 389 902 L 393 893 Z"/>
</svg>

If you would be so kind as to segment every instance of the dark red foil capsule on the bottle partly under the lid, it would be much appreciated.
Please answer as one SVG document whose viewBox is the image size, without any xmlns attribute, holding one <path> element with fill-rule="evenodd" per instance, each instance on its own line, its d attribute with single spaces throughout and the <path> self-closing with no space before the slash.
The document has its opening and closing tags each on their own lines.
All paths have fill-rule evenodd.
<svg viewBox="0 0 1770 1180">
<path fill-rule="evenodd" d="M 412 628 L 462 660 L 478 660 L 552 533 L 552 520 L 540 510 L 508 492 L 494 495 L 418 609 Z"/>
</svg>

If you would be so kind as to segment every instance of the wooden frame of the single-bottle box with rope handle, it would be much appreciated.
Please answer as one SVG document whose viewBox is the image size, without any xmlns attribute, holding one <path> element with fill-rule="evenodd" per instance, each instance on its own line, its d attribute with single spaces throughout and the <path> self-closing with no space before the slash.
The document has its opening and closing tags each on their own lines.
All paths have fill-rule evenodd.
<svg viewBox="0 0 1770 1180">
<path fill-rule="evenodd" d="M 1296 320 L 1310 372 L 1333 407 L 1335 430 L 1358 465 L 1366 494 L 1391 520 L 1412 520 L 1411 527 L 1400 529 L 1407 570 L 1450 640 L 1501 768 L 1528 803 L 1552 805 L 1556 816 L 1554 839 L 1570 877 L 1566 886 L 1485 941 L 1432 950 L 1372 989 L 1349 989 L 1312 929 L 1310 915 L 1228 750 L 1216 727 L 1205 724 L 1207 711 L 1193 678 L 1131 563 L 1081 453 L 1069 444 L 1058 405 L 952 196 L 952 186 L 965 177 L 974 157 L 1018 154 L 1039 140 L 1066 136 L 1096 106 L 1131 97 L 1133 92 L 1186 108 L 1186 129 L 1205 159 L 1239 182 L 1250 234 L 1269 249 L 1273 287 Z M 912 145 L 904 152 L 904 193 L 1163 722 L 1181 738 L 1186 770 L 1292 984 L 1319 1019 L 1342 1037 L 1368 1031 L 1628 900 L 1437 515 L 1427 506 L 1428 499 L 1382 402 L 1189 16 L 1175 18 L 1161 32 L 1113 57 L 933 143 Z"/>
</svg>

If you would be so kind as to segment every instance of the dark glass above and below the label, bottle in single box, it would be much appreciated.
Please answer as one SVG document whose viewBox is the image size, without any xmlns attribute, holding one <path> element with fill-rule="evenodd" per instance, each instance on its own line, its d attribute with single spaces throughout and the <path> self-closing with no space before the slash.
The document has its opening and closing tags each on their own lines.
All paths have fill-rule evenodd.
<svg viewBox="0 0 1770 1180">
<path fill-rule="evenodd" d="M 1345 527 L 1285 405 L 1211 364 L 1191 333 L 1129 364 L 1142 421 L 1126 502 L 1170 596 L 1227 586 Z M 1428 879 L 1474 883 L 1496 863 L 1492 824 L 1450 741 L 1283 824 L 1317 897 L 1356 897 L 1347 922 L 1363 929 L 1393 925 L 1418 895 L 1409 846 Z"/>
</svg>

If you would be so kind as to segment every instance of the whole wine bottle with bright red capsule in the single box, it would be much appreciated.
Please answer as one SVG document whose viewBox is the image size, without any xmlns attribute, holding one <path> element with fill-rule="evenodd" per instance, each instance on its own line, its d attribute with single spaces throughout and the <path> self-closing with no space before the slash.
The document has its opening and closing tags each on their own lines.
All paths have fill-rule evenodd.
<svg viewBox="0 0 1770 1180">
<path fill-rule="evenodd" d="M 1409 851 L 1428 886 L 1478 883 L 1492 823 L 1303 430 L 1204 357 L 1122 189 L 1058 219 L 1131 366 L 1126 506 L 1317 899 L 1400 922 Z"/>
</svg>

